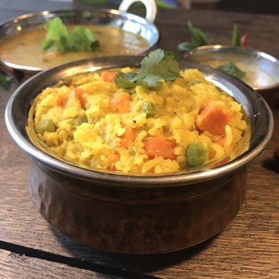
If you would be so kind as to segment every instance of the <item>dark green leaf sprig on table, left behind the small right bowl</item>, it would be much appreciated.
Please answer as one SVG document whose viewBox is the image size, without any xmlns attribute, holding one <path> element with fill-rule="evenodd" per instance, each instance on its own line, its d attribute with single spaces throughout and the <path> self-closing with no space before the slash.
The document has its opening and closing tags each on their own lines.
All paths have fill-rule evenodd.
<svg viewBox="0 0 279 279">
<path fill-rule="evenodd" d="M 202 45 L 210 45 L 209 38 L 207 38 L 206 34 L 202 32 L 202 30 L 194 27 L 192 22 L 190 21 L 188 21 L 187 24 L 192 40 L 190 40 L 190 42 L 183 42 L 179 44 L 179 50 L 183 52 L 190 52 L 190 50 L 193 50 L 196 47 L 200 47 Z"/>
</svg>

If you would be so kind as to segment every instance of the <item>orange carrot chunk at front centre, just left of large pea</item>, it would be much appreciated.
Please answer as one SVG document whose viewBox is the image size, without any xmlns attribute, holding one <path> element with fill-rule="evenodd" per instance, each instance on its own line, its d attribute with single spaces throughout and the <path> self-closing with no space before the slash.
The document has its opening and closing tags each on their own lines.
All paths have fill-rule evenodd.
<svg viewBox="0 0 279 279">
<path fill-rule="evenodd" d="M 164 159 L 174 160 L 176 159 L 175 147 L 175 140 L 169 140 L 165 137 L 146 137 L 144 139 L 144 151 L 149 158 L 163 156 Z"/>
</svg>

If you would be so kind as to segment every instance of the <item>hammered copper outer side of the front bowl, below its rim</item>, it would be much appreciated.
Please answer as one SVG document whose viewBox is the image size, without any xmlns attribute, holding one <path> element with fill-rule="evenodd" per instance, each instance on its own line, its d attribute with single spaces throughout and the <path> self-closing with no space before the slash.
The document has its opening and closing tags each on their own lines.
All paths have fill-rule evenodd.
<svg viewBox="0 0 279 279">
<path fill-rule="evenodd" d="M 63 234 L 92 248 L 158 254 L 193 246 L 220 232 L 239 212 L 246 167 L 188 186 L 128 188 L 67 178 L 31 164 L 31 198 Z"/>
</svg>

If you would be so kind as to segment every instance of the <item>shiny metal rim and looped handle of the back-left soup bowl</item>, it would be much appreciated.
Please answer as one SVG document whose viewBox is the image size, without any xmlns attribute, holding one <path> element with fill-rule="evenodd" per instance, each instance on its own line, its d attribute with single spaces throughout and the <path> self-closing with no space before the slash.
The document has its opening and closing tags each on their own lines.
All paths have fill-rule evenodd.
<svg viewBox="0 0 279 279">
<path fill-rule="evenodd" d="M 146 19 L 127 13 L 128 8 L 135 2 L 135 0 L 123 0 L 119 6 L 119 10 L 93 8 L 93 10 L 56 10 L 21 15 L 20 17 L 15 17 L 12 20 L 0 24 L 0 39 L 7 36 L 15 36 L 30 27 L 45 24 L 53 17 L 61 17 L 66 24 L 107 25 L 140 35 L 149 43 L 149 47 L 144 50 L 144 52 L 146 52 L 156 45 L 159 39 L 158 29 L 153 24 L 157 8 L 154 0 L 139 1 L 146 6 Z M 13 74 L 13 69 L 31 74 L 38 73 L 40 70 L 45 70 L 45 68 L 15 64 L 10 63 L 9 61 L 1 62 L 6 66 L 5 70 L 10 70 L 11 74 Z"/>
</svg>

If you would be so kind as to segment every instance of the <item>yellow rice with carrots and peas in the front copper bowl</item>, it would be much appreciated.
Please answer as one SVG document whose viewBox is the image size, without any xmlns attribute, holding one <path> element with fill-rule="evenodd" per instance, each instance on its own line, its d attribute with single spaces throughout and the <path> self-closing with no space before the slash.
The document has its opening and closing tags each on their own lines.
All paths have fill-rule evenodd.
<svg viewBox="0 0 279 279">
<path fill-rule="evenodd" d="M 241 105 L 199 70 L 182 70 L 159 89 L 121 89 L 114 77 L 80 74 L 73 86 L 40 93 L 31 115 L 40 142 L 77 165 L 130 174 L 179 172 L 233 156 L 246 130 Z"/>
</svg>

